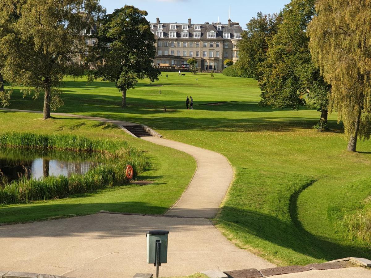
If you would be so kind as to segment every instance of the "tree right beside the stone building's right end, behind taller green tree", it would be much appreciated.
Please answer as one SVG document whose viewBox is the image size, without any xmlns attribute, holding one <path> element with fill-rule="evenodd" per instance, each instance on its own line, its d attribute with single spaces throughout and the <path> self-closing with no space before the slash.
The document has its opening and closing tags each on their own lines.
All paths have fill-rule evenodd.
<svg viewBox="0 0 371 278">
<path fill-rule="evenodd" d="M 281 14 L 270 15 L 259 12 L 256 18 L 253 17 L 246 24 L 242 40 L 237 44 L 239 60 L 236 66 L 239 72 L 259 79 L 258 65 L 266 60 L 268 42 L 277 33 L 281 21 Z"/>
</svg>

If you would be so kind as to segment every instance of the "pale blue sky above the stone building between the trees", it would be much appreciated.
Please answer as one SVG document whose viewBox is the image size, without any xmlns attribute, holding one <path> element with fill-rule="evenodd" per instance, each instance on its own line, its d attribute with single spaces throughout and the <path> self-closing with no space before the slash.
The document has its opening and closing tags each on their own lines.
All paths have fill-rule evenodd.
<svg viewBox="0 0 371 278">
<path fill-rule="evenodd" d="M 227 23 L 229 5 L 231 19 L 245 26 L 256 13 L 279 12 L 290 0 L 101 0 L 107 13 L 127 5 L 133 5 L 148 12 L 147 20 L 155 22 L 160 17 L 163 23 L 186 23 L 191 17 L 193 23 L 218 21 Z"/>
</svg>

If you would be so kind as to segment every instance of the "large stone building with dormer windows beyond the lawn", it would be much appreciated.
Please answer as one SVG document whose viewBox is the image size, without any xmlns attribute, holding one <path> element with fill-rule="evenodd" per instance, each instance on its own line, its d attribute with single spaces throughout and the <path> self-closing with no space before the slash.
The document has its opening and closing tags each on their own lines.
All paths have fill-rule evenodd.
<svg viewBox="0 0 371 278">
<path fill-rule="evenodd" d="M 228 20 L 228 24 L 209 23 L 151 23 L 157 39 L 155 66 L 189 67 L 187 60 L 197 60 L 201 70 L 221 71 L 224 60 L 238 60 L 237 42 L 241 40 L 239 23 Z"/>
</svg>

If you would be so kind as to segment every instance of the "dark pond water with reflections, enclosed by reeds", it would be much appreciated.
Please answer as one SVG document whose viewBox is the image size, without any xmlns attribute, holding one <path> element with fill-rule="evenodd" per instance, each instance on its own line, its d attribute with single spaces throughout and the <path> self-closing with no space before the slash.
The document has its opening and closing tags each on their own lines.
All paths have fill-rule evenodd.
<svg viewBox="0 0 371 278">
<path fill-rule="evenodd" d="M 106 158 L 97 153 L 0 148 L 0 183 L 23 176 L 30 179 L 85 174 L 105 161 Z"/>
</svg>

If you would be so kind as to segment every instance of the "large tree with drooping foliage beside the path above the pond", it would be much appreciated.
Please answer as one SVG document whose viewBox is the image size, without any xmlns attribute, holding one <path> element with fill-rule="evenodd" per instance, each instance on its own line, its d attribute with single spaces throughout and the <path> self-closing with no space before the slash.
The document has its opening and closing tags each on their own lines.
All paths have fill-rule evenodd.
<svg viewBox="0 0 371 278">
<path fill-rule="evenodd" d="M 1 0 L 8 2 L 13 1 Z M 83 74 L 74 61 L 85 53 L 85 30 L 91 30 L 102 7 L 99 0 L 27 0 L 17 12 L 14 32 L 1 41 L 6 55 L 1 73 L 24 86 L 24 95 L 37 98 L 44 92 L 43 119 L 48 119 L 50 109 L 63 105 L 63 76 Z"/>
</svg>

